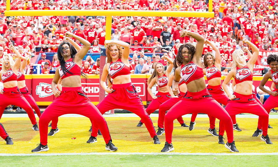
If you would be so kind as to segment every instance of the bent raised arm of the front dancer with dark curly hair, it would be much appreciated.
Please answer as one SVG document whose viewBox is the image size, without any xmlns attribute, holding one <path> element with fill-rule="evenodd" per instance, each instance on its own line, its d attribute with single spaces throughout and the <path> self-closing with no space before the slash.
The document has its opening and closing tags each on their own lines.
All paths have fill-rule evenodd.
<svg viewBox="0 0 278 167">
<path fill-rule="evenodd" d="M 195 54 L 193 55 L 192 59 L 195 58 L 196 61 L 199 61 L 202 53 L 203 53 L 203 48 L 204 48 L 204 38 L 202 37 L 202 35 L 195 33 L 195 32 L 191 32 L 191 31 L 187 31 L 187 30 L 182 30 L 180 31 L 180 37 L 184 37 L 184 36 L 192 36 L 196 41 L 196 51 Z"/>
</svg>

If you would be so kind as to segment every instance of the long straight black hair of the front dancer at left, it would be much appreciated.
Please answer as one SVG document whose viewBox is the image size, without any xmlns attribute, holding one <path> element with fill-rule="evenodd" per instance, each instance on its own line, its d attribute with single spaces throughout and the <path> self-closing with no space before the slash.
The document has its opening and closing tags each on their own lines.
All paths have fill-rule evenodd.
<svg viewBox="0 0 278 167">
<path fill-rule="evenodd" d="M 76 50 L 76 49 L 74 48 L 74 46 L 73 46 L 70 42 L 68 42 L 68 41 L 63 41 L 63 42 L 59 45 L 59 47 L 58 47 L 57 55 L 58 55 L 58 59 L 59 59 L 59 61 L 60 61 L 60 66 L 61 66 L 61 69 L 62 69 L 63 73 L 64 73 L 65 75 L 67 75 L 67 73 L 69 73 L 69 74 L 72 74 L 72 73 L 71 73 L 67 68 L 65 68 L 64 56 L 66 56 L 66 54 L 63 53 L 63 48 L 62 48 L 62 46 L 63 46 L 64 44 L 67 44 L 67 45 L 70 47 L 70 56 L 71 56 L 71 58 L 72 58 L 72 61 L 74 61 L 74 57 L 75 57 L 75 55 L 76 55 L 76 53 L 77 53 L 77 50 Z M 82 75 L 82 77 L 84 77 L 84 78 L 87 79 L 87 75 L 86 75 L 85 73 L 83 73 L 82 70 L 81 70 L 81 75 Z"/>
</svg>

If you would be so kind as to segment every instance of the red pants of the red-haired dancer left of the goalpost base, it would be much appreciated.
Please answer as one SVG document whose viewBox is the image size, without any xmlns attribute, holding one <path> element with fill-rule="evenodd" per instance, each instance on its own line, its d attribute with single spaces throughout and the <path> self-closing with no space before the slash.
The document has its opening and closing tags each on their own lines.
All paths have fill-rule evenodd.
<svg viewBox="0 0 278 167">
<path fill-rule="evenodd" d="M 145 107 L 139 97 L 136 89 L 132 83 L 126 84 L 113 84 L 112 93 L 109 93 L 98 105 L 101 114 L 104 114 L 106 111 L 120 108 L 128 110 L 138 115 L 145 123 L 146 128 L 148 129 L 150 136 L 153 138 L 156 136 L 154 125 L 150 116 L 145 111 Z M 91 136 L 97 136 L 99 126 L 93 124 Z M 102 133 L 101 129 L 100 132 Z"/>
</svg>

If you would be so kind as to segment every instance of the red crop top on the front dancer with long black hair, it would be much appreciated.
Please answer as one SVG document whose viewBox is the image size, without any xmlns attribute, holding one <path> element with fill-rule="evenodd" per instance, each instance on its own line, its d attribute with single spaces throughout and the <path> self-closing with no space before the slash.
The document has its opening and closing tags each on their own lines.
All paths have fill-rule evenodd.
<svg viewBox="0 0 278 167">
<path fill-rule="evenodd" d="M 78 76 L 81 75 L 82 69 L 72 61 L 72 58 L 65 62 L 65 68 L 68 69 L 72 74 L 64 73 L 60 67 L 59 74 L 62 79 L 66 78 L 66 77 L 74 76 L 74 75 L 78 75 Z"/>
</svg>

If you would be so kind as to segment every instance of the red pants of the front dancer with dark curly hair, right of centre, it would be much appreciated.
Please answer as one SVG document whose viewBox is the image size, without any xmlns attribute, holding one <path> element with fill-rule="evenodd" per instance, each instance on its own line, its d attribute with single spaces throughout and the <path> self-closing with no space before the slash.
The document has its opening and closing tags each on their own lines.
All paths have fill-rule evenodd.
<svg viewBox="0 0 278 167">
<path fill-rule="evenodd" d="M 187 109 L 187 110 L 186 110 Z M 200 92 L 188 92 L 184 98 L 177 102 L 165 115 L 166 141 L 172 142 L 173 120 L 189 113 L 203 112 L 224 122 L 227 129 L 228 142 L 234 141 L 232 119 L 225 109 L 214 100 L 207 89 Z"/>
</svg>

